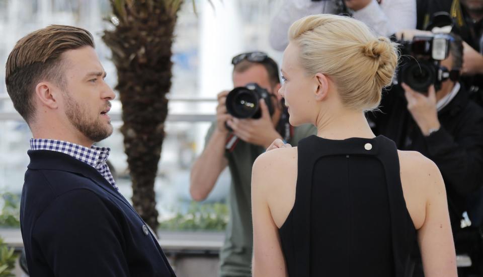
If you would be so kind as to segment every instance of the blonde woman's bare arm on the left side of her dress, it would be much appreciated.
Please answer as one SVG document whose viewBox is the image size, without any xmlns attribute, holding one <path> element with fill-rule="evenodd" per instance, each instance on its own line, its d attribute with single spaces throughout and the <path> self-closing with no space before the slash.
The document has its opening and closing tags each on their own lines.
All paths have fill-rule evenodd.
<svg viewBox="0 0 483 277">
<path fill-rule="evenodd" d="M 266 153 L 268 154 L 268 153 Z M 282 253 L 278 228 L 272 219 L 267 202 L 273 176 L 270 176 L 271 157 L 263 154 L 255 161 L 252 170 L 253 220 L 253 276 L 288 276 Z M 270 153 L 271 154 L 271 153 Z"/>
</svg>

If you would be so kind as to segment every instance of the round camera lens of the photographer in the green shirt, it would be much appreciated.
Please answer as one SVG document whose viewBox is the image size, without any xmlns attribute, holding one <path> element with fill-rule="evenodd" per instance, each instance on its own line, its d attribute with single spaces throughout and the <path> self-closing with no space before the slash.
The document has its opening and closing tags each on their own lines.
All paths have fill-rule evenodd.
<svg viewBox="0 0 483 277">
<path fill-rule="evenodd" d="M 250 118 L 259 109 L 257 95 L 246 88 L 232 90 L 226 97 L 228 112 L 237 118 Z"/>
</svg>

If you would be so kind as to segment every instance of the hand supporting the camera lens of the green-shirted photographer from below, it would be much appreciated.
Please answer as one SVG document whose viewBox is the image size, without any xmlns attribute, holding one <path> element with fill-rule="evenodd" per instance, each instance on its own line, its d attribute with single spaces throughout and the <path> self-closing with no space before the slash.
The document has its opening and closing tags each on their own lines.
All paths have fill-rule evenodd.
<svg viewBox="0 0 483 277">
<path fill-rule="evenodd" d="M 267 148 L 274 140 L 282 137 L 275 130 L 267 104 L 263 100 L 260 100 L 260 109 L 262 117 L 259 119 L 232 118 L 226 122 L 241 140 Z"/>
</svg>

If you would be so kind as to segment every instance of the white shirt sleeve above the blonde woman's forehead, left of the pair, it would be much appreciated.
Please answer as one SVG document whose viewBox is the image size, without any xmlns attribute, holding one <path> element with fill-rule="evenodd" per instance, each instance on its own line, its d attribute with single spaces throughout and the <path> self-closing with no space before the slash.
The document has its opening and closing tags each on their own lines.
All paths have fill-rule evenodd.
<svg viewBox="0 0 483 277">
<path fill-rule="evenodd" d="M 331 1 L 282 1 L 280 9 L 275 12 L 275 16 L 270 24 L 270 45 L 275 50 L 283 51 L 288 45 L 287 32 L 292 23 L 305 16 L 332 13 L 334 10 L 331 5 L 327 5 L 328 2 Z"/>
</svg>

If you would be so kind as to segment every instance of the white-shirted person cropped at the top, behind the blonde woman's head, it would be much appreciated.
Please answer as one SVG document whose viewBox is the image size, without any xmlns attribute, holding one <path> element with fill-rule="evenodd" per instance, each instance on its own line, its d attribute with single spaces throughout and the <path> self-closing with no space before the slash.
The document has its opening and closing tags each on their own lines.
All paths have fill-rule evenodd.
<svg viewBox="0 0 483 277">
<path fill-rule="evenodd" d="M 316 14 L 351 14 L 380 36 L 416 27 L 416 0 L 284 0 L 270 24 L 270 45 L 283 51 L 292 23 Z"/>
</svg>

